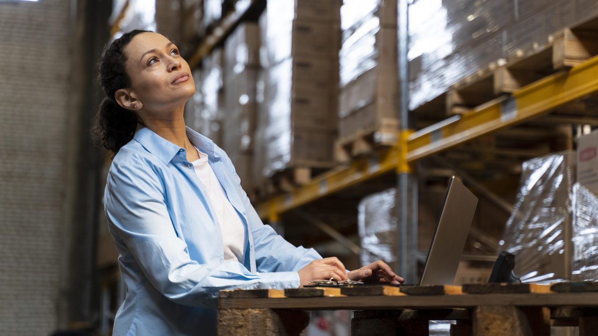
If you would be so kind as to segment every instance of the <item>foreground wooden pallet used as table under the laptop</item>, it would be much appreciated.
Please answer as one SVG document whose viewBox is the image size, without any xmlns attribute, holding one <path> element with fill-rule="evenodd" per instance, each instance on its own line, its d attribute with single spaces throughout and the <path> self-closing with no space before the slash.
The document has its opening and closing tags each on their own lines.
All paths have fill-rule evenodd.
<svg viewBox="0 0 598 336">
<path fill-rule="evenodd" d="M 251 311 L 255 320 L 274 316 L 275 321 L 267 326 L 235 323 L 236 331 L 271 334 L 289 323 L 273 315 L 277 308 L 290 309 L 289 314 L 324 308 L 358 310 L 352 335 L 370 335 L 374 329 L 376 334 L 427 335 L 430 320 L 456 320 L 451 335 L 548 336 L 551 326 L 578 326 L 579 335 L 588 336 L 595 335 L 598 326 L 597 295 L 598 282 L 227 291 L 220 295 L 219 328 L 230 329 L 230 319 Z"/>
</svg>

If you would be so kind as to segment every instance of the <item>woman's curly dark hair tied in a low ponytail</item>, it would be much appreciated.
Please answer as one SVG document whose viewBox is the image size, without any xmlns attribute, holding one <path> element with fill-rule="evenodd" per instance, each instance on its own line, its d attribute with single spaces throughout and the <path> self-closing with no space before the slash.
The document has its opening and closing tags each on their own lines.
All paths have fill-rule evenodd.
<svg viewBox="0 0 598 336">
<path fill-rule="evenodd" d="M 138 118 L 134 111 L 118 105 L 114 94 L 121 88 L 129 88 L 131 80 L 125 69 L 127 56 L 124 47 L 139 33 L 151 30 L 131 30 L 120 38 L 108 42 L 102 51 L 97 67 L 98 81 L 106 97 L 100 103 L 96 117 L 91 125 L 91 138 L 97 145 L 103 145 L 114 153 L 127 144 L 137 129 Z"/>
</svg>

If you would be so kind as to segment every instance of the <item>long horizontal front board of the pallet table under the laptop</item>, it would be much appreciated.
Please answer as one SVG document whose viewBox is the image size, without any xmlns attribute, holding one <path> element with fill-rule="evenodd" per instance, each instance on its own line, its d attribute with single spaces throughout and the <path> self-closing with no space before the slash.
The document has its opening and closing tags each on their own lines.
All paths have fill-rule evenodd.
<svg viewBox="0 0 598 336">
<path fill-rule="evenodd" d="M 221 308 L 296 308 L 320 309 L 400 309 L 400 308 L 471 308 L 480 303 L 495 306 L 596 307 L 598 292 L 468 294 L 468 295 L 400 295 L 373 297 L 321 298 L 221 298 Z"/>
</svg>

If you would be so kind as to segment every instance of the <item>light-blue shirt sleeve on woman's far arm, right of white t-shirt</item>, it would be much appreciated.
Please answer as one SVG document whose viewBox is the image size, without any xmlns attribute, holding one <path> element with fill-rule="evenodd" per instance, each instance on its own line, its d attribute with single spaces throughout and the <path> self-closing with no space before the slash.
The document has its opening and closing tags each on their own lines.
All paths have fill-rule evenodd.
<svg viewBox="0 0 598 336">
<path fill-rule="evenodd" d="M 252 206 L 247 193 L 241 187 L 241 179 L 234 169 L 233 163 L 227 158 L 227 165 L 233 172 L 239 196 L 247 211 L 247 221 L 254 239 L 255 263 L 261 272 L 298 271 L 322 256 L 315 249 L 306 249 L 303 246 L 295 247 L 274 231 L 270 225 L 265 225 Z M 297 276 L 298 278 L 298 276 Z M 297 283 L 295 288 L 300 284 Z"/>
</svg>

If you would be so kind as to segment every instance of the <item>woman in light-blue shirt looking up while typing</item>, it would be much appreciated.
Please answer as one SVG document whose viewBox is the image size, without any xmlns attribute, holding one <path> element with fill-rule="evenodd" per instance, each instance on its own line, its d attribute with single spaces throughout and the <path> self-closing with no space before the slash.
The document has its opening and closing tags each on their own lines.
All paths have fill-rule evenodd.
<svg viewBox="0 0 598 336">
<path fill-rule="evenodd" d="M 215 334 L 221 289 L 404 281 L 382 261 L 347 272 L 260 221 L 225 152 L 185 126 L 195 84 L 167 38 L 126 33 L 99 71 L 106 97 L 92 133 L 114 152 L 104 206 L 126 285 L 114 335 Z"/>
</svg>

